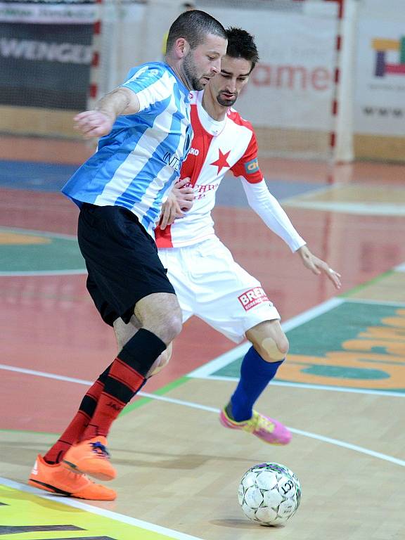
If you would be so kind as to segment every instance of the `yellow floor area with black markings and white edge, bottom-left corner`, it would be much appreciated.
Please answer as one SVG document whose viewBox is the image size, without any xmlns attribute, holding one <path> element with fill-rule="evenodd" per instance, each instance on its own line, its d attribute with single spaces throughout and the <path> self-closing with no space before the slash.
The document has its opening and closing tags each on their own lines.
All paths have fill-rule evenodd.
<svg viewBox="0 0 405 540">
<path fill-rule="evenodd" d="M 38 489 L 0 477 L 1 540 L 30 540 L 34 538 L 33 533 L 36 540 L 60 539 L 61 536 L 92 540 L 100 537 L 104 540 L 202 540 L 75 499 L 44 495 Z"/>
</svg>

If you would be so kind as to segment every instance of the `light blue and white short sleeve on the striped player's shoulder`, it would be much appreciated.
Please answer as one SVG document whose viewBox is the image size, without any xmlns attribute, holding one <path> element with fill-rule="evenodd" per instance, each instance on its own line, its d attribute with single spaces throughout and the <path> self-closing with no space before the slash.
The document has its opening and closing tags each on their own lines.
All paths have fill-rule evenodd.
<svg viewBox="0 0 405 540">
<path fill-rule="evenodd" d="M 121 86 L 129 88 L 138 96 L 139 112 L 146 112 L 153 105 L 171 98 L 173 91 L 169 72 L 158 65 L 143 65 L 131 70 L 127 81 Z"/>
</svg>

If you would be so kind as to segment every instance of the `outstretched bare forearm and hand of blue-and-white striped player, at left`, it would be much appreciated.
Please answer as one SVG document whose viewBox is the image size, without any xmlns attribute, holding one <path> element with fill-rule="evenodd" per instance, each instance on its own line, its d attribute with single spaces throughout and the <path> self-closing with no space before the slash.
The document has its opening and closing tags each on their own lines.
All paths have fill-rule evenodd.
<svg viewBox="0 0 405 540">
<path fill-rule="evenodd" d="M 108 135 L 120 115 L 134 115 L 140 108 L 135 92 L 120 87 L 98 101 L 94 110 L 86 110 L 75 116 L 75 129 L 85 139 Z"/>
</svg>

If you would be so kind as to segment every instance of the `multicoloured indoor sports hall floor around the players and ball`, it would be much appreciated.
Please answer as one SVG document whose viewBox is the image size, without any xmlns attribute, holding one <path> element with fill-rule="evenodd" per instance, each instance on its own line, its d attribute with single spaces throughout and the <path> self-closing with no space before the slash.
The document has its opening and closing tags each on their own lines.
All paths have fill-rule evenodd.
<svg viewBox="0 0 405 540">
<path fill-rule="evenodd" d="M 227 178 L 217 233 L 283 316 L 288 361 L 258 409 L 293 431 L 287 447 L 225 430 L 235 347 L 186 323 L 169 367 L 110 434 L 117 501 L 84 503 L 27 487 L 38 453 L 65 428 L 115 356 L 85 289 L 77 210 L 58 193 L 92 152 L 83 143 L 0 139 L 0 536 L 2 539 L 402 540 L 405 404 L 405 167 L 261 160 L 269 188 L 337 294 L 246 207 Z M 150 396 L 149 396 L 150 394 Z M 284 463 L 302 483 L 285 527 L 248 521 L 240 477 Z"/>
</svg>

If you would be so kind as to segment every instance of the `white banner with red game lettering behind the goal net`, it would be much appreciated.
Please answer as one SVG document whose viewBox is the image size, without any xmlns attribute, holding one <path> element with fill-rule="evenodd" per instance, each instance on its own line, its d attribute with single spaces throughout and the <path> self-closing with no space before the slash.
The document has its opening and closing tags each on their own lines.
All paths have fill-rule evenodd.
<svg viewBox="0 0 405 540">
<path fill-rule="evenodd" d="M 260 62 L 237 105 L 255 126 L 332 129 L 338 33 L 334 4 L 324 4 L 321 13 L 210 11 L 225 26 L 242 27 L 255 36 Z"/>
</svg>

